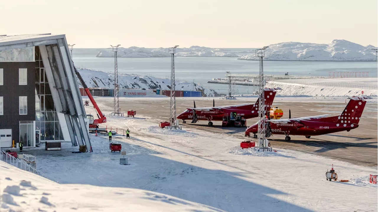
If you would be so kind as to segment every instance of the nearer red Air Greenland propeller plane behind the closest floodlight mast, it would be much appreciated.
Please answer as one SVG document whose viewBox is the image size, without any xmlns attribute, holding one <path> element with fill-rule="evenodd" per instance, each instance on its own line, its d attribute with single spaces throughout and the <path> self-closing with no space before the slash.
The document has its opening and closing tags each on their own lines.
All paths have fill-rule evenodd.
<svg viewBox="0 0 378 212">
<path fill-rule="evenodd" d="M 358 128 L 358 122 L 364 110 L 366 99 L 371 97 L 349 97 L 349 103 L 339 116 L 317 115 L 302 118 L 291 118 L 289 111 L 289 119 L 270 119 L 267 122 L 266 137 L 271 134 L 285 135 L 285 140 L 290 141 L 289 135 L 304 135 L 310 138 L 311 135 L 324 135 L 328 133 L 347 131 Z M 245 136 L 254 137 L 257 133 L 258 123 L 250 126 L 245 131 Z"/>
</svg>

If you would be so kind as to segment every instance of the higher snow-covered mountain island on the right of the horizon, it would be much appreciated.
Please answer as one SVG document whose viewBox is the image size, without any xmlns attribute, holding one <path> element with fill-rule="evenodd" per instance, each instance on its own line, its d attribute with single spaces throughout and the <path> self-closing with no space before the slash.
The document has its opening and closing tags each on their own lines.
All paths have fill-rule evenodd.
<svg viewBox="0 0 378 212">
<path fill-rule="evenodd" d="M 375 61 L 375 52 L 371 48 L 374 46 L 362 46 L 347 40 L 333 40 L 329 44 L 285 42 L 269 45 L 264 60 Z M 239 59 L 259 60 L 254 52 Z"/>
</svg>

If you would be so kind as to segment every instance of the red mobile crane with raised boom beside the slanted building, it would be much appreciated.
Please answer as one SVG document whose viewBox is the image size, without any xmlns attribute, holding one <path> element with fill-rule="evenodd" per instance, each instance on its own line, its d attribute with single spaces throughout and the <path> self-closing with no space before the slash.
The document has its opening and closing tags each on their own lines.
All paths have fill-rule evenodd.
<svg viewBox="0 0 378 212">
<path fill-rule="evenodd" d="M 90 131 L 96 131 L 96 129 L 98 131 L 102 131 L 98 128 L 98 124 L 102 124 L 102 123 L 105 123 L 106 122 L 106 117 L 105 115 L 101 112 L 100 108 L 98 107 L 95 99 L 93 98 L 91 92 L 89 91 L 89 88 L 87 86 L 87 84 L 85 84 L 83 78 L 81 77 L 80 73 L 77 71 L 76 67 L 74 66 L 75 68 L 75 73 L 77 75 L 77 78 L 79 78 L 79 81 L 81 82 L 81 84 L 83 85 L 83 88 L 84 88 L 84 91 L 85 93 L 87 94 L 88 98 L 91 100 L 91 103 L 93 104 L 93 107 L 96 109 L 96 113 L 97 113 L 97 117 L 98 119 L 95 119 L 93 117 L 93 115 L 91 114 L 87 114 L 87 118 L 90 119 L 90 122 L 89 122 L 89 130 Z M 91 129 L 92 128 L 92 129 Z M 106 131 L 106 130 L 105 130 Z"/>
</svg>

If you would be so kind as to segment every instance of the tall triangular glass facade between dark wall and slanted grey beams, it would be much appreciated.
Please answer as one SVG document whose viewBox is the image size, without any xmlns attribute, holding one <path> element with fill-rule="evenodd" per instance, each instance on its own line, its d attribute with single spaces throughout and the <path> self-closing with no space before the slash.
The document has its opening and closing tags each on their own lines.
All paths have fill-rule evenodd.
<svg viewBox="0 0 378 212">
<path fill-rule="evenodd" d="M 43 67 L 42 58 L 38 47 L 36 47 L 36 131 L 39 130 L 39 140 L 64 140 L 60 128 L 57 111 L 51 95 L 50 86 Z M 37 137 L 37 133 L 36 133 Z M 37 141 L 38 142 L 38 141 Z"/>
</svg>

